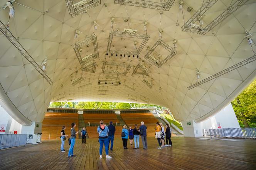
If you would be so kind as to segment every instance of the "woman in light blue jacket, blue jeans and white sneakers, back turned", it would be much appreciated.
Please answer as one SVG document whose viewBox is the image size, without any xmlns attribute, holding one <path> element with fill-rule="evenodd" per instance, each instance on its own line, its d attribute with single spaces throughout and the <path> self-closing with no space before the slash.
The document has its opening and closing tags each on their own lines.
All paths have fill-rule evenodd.
<svg viewBox="0 0 256 170">
<path fill-rule="evenodd" d="M 111 158 L 111 156 L 108 155 L 108 127 L 104 125 L 103 120 L 99 121 L 99 126 L 97 128 L 97 132 L 99 133 L 99 158 L 102 158 L 102 150 L 103 145 L 105 146 L 105 152 L 106 152 L 106 159 Z"/>
</svg>

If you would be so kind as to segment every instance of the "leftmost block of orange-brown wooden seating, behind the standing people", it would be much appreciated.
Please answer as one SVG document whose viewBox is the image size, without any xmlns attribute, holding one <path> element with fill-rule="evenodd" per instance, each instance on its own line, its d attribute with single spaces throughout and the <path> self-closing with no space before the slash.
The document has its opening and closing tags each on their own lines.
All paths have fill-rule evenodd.
<svg viewBox="0 0 256 170">
<path fill-rule="evenodd" d="M 42 122 L 42 140 L 59 139 L 62 126 L 66 126 L 66 135 L 70 136 L 72 122 L 76 122 L 76 126 L 78 128 L 78 114 L 45 113 L 44 120 Z"/>
</svg>

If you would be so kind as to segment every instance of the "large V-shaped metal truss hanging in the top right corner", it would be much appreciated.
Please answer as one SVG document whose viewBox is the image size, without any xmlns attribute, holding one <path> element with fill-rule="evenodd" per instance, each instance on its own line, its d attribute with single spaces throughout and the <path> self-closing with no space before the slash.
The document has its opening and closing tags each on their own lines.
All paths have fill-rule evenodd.
<svg viewBox="0 0 256 170">
<path fill-rule="evenodd" d="M 209 10 L 212 5 L 214 5 L 218 0 L 206 0 L 205 3 L 192 15 L 191 18 L 181 27 L 184 32 L 197 33 L 200 35 L 205 35 L 207 32 L 212 30 L 216 25 L 222 22 L 225 18 L 231 15 L 239 7 L 244 5 L 248 0 L 235 0 L 234 3 L 231 3 L 229 7 L 226 8 L 218 17 L 216 17 L 211 23 L 207 26 L 202 27 L 202 25 L 197 25 L 196 22 L 199 22 L 200 17 L 204 15 L 207 10 Z"/>
</svg>

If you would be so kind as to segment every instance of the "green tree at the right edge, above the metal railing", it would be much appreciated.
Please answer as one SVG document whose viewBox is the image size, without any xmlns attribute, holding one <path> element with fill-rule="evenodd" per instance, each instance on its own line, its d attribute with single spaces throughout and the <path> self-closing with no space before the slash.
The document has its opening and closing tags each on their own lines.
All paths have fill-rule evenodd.
<svg viewBox="0 0 256 170">
<path fill-rule="evenodd" d="M 256 80 L 231 103 L 237 119 L 243 122 L 244 127 L 249 127 L 248 122 L 256 119 Z"/>
</svg>

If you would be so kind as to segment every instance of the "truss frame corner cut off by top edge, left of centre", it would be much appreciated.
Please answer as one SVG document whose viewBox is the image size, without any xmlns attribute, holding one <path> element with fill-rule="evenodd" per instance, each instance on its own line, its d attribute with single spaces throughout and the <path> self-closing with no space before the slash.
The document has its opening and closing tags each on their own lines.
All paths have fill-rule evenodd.
<svg viewBox="0 0 256 170">
<path fill-rule="evenodd" d="M 101 0 L 66 0 L 67 10 L 72 18 L 101 4 Z"/>
</svg>

